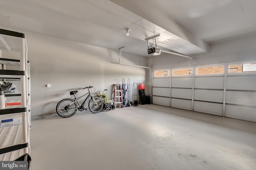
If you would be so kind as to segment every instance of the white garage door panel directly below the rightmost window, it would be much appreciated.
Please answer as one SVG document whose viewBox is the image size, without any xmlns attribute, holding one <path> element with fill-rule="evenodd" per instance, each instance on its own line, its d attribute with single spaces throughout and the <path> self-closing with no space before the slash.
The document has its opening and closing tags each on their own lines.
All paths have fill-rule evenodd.
<svg viewBox="0 0 256 170">
<path fill-rule="evenodd" d="M 256 76 L 228 76 L 227 90 L 256 90 Z"/>
</svg>

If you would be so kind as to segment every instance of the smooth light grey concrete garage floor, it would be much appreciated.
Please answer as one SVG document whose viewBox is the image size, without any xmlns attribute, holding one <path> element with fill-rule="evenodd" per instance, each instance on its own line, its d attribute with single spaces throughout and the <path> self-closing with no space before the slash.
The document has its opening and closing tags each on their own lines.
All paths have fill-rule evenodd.
<svg viewBox="0 0 256 170">
<path fill-rule="evenodd" d="M 256 123 L 157 105 L 32 121 L 32 170 L 255 170 Z"/>
</svg>

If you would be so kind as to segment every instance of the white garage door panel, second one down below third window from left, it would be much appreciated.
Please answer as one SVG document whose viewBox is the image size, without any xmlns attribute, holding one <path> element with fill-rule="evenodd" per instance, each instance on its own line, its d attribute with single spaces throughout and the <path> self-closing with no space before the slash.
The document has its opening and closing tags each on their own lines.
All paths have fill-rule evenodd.
<svg viewBox="0 0 256 170">
<path fill-rule="evenodd" d="M 222 90 L 194 90 L 194 100 L 223 103 Z"/>
</svg>

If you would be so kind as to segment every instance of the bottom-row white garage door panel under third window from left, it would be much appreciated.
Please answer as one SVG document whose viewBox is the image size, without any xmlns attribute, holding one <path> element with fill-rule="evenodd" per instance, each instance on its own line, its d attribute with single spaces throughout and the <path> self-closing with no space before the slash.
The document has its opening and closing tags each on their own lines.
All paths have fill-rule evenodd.
<svg viewBox="0 0 256 170">
<path fill-rule="evenodd" d="M 222 116 L 223 104 L 194 101 L 194 111 Z"/>
</svg>

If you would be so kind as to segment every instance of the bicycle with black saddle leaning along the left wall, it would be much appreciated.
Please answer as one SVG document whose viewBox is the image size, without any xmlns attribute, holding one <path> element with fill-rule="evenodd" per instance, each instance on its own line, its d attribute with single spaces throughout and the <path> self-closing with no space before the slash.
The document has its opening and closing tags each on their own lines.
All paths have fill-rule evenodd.
<svg viewBox="0 0 256 170">
<path fill-rule="evenodd" d="M 76 98 L 75 94 L 78 92 L 76 91 L 71 91 L 70 95 L 74 95 L 73 99 L 63 99 L 60 100 L 60 102 L 58 102 L 57 106 L 56 106 L 56 112 L 60 117 L 71 117 L 72 115 L 74 115 L 76 113 L 77 110 L 79 111 L 83 111 L 84 109 L 87 110 L 87 108 L 84 108 L 84 104 L 86 104 L 86 102 L 89 100 L 90 101 L 88 103 L 88 107 L 90 109 L 90 111 L 92 113 L 98 113 L 102 110 L 103 108 L 103 102 L 101 100 L 101 98 L 99 97 L 93 97 L 92 96 L 92 90 L 90 90 L 91 88 L 93 88 L 93 86 L 88 86 L 85 87 L 83 89 L 87 89 L 88 90 L 88 96 L 86 97 L 86 99 L 84 100 L 84 102 L 80 105 L 78 102 L 78 99 L 82 98 L 83 96 L 85 96 L 86 94 L 84 94 L 83 96 Z M 95 89 L 94 89 L 95 92 Z"/>
</svg>

